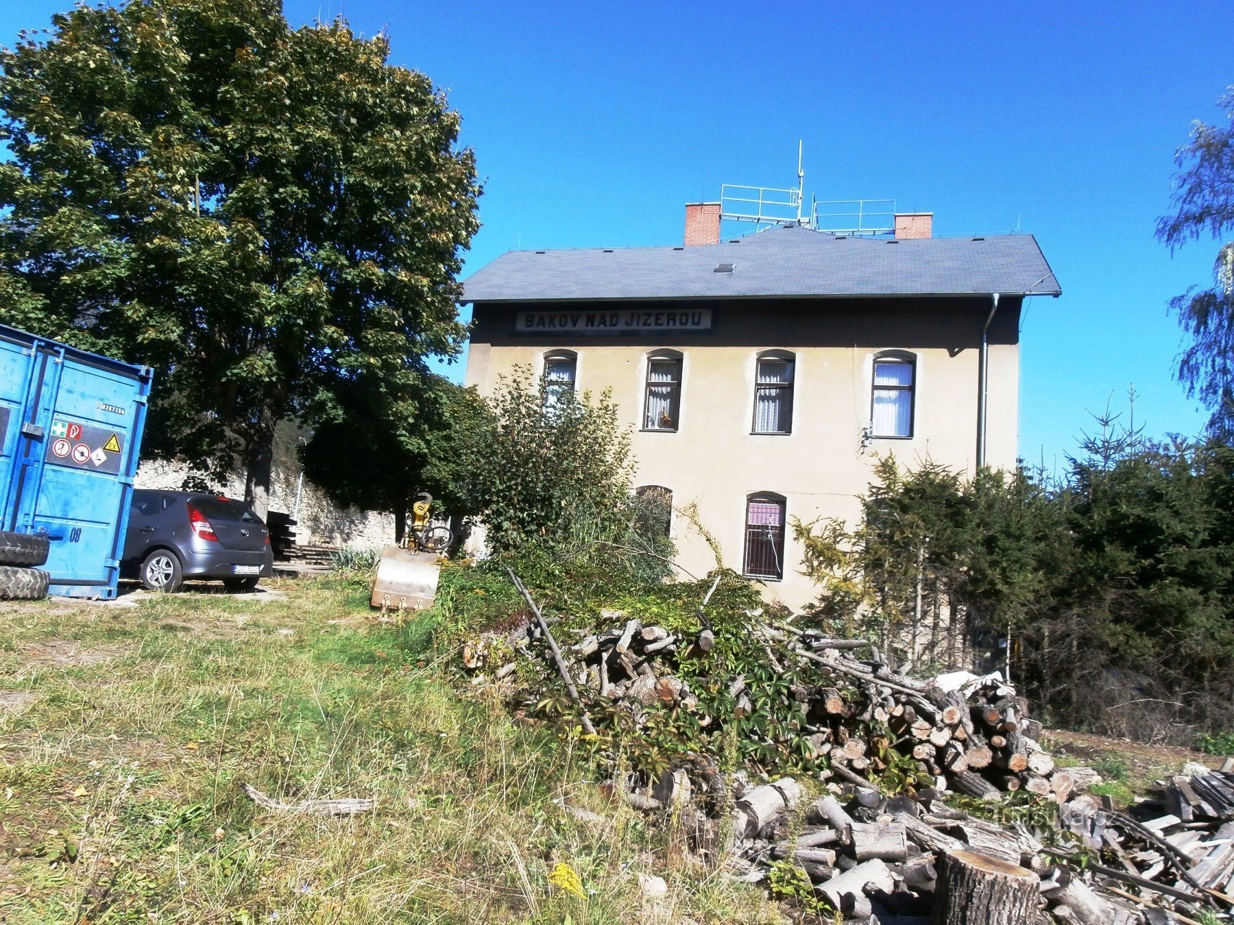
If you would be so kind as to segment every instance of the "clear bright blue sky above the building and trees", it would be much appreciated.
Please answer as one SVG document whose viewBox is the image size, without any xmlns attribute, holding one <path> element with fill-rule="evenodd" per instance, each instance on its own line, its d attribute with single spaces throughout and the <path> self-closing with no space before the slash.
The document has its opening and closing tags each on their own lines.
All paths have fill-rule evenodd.
<svg viewBox="0 0 1234 925">
<path fill-rule="evenodd" d="M 0 6 L 0 43 L 64 2 Z M 723 183 L 895 199 L 935 234 L 1037 236 L 1061 298 L 1029 301 L 1021 454 L 1061 462 L 1109 403 L 1150 434 L 1204 416 L 1174 381 L 1169 298 L 1217 245 L 1154 238 L 1175 149 L 1234 83 L 1229 0 L 666 4 L 289 0 L 386 30 L 464 118 L 485 178 L 474 270 L 516 247 L 677 244 Z M 460 368 L 454 366 L 457 374 Z"/>
</svg>

